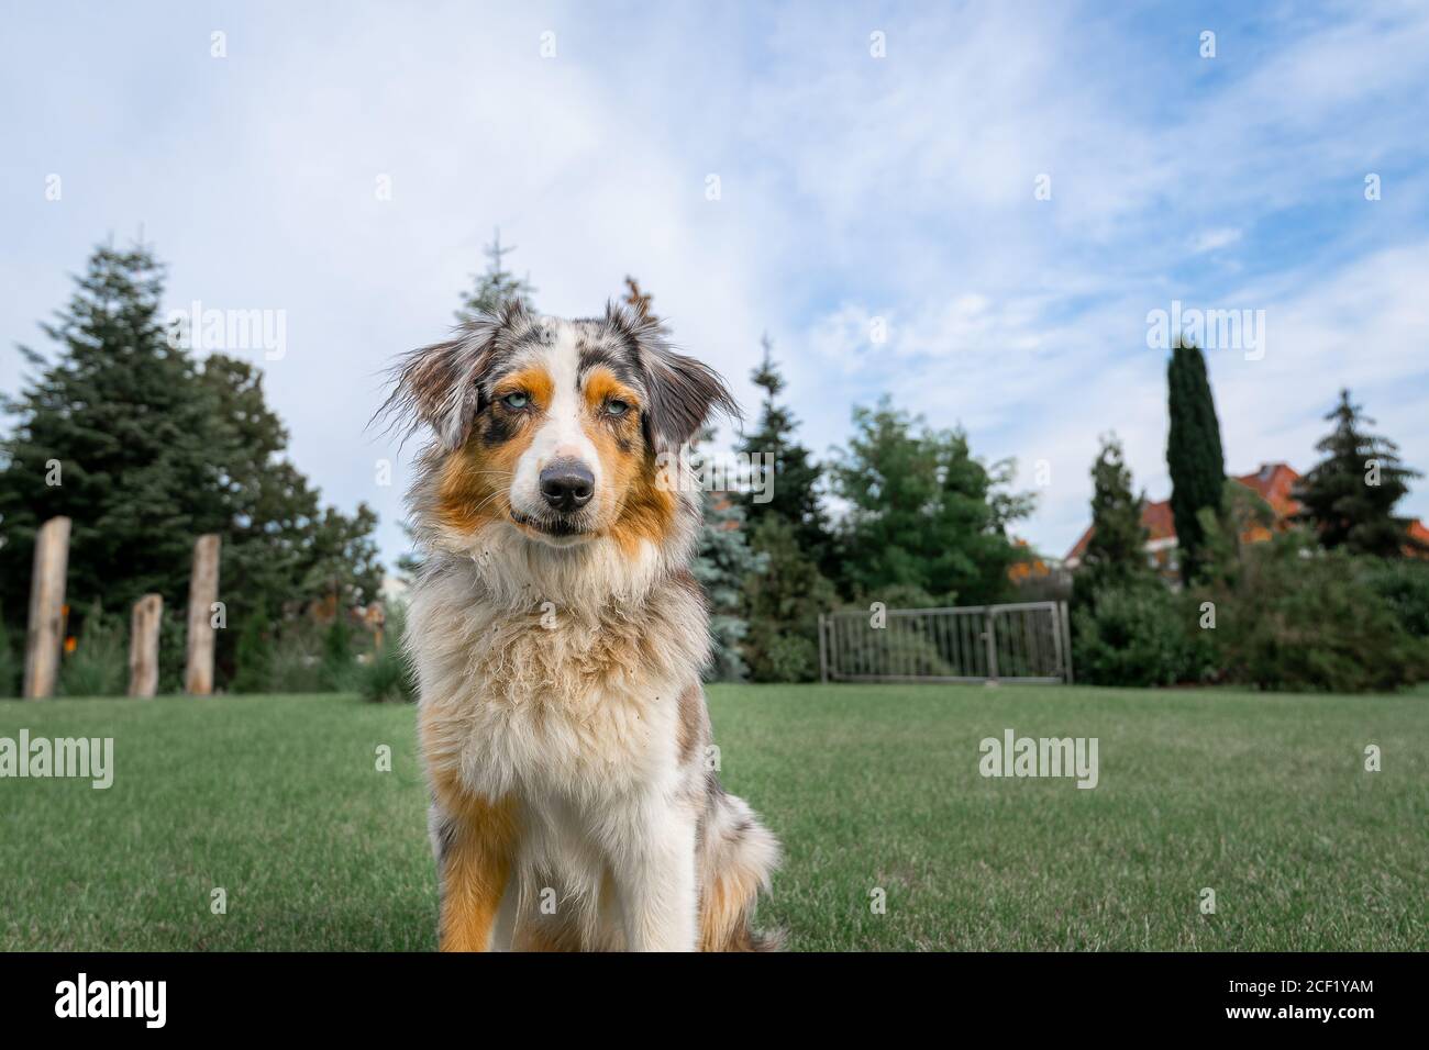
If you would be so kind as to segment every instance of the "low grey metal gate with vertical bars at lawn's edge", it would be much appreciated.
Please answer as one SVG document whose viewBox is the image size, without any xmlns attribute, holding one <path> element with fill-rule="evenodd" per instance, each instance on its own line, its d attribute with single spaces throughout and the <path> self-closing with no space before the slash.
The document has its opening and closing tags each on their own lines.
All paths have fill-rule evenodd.
<svg viewBox="0 0 1429 1050">
<path fill-rule="evenodd" d="M 1065 601 L 819 617 L 825 681 L 1072 681 Z"/>
</svg>

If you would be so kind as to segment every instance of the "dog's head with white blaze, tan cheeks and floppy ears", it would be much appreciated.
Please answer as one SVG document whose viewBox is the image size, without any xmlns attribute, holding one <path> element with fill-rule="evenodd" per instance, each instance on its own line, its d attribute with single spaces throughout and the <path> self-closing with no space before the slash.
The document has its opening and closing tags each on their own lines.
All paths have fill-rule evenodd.
<svg viewBox="0 0 1429 1050">
<path fill-rule="evenodd" d="M 737 413 L 723 380 L 674 353 L 657 321 L 616 304 L 562 320 L 516 303 L 403 359 L 387 409 L 436 434 L 424 524 L 626 549 L 659 544 L 679 510 L 662 453 L 677 454 L 712 411 Z"/>
</svg>

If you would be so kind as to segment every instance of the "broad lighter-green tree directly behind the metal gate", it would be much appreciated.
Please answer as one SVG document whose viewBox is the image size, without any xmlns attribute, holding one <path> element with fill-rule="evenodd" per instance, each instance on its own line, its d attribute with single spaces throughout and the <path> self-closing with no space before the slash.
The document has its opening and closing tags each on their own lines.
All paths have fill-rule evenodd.
<svg viewBox="0 0 1429 1050">
<path fill-rule="evenodd" d="M 1025 557 L 1007 524 L 1033 497 L 1009 493 L 1013 461 L 983 466 L 960 430 L 932 430 L 893 407 L 853 410 L 855 434 L 833 466 L 850 506 L 842 590 L 856 596 L 922 594 L 937 604 L 985 604 L 1010 587 Z"/>
</svg>

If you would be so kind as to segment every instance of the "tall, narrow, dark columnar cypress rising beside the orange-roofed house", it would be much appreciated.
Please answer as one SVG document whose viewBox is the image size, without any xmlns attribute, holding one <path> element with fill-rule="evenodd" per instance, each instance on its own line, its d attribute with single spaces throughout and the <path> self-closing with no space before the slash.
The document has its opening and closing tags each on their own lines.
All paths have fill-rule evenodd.
<svg viewBox="0 0 1429 1050">
<path fill-rule="evenodd" d="M 1206 376 L 1206 359 L 1195 346 L 1177 341 L 1166 366 L 1170 433 L 1166 466 L 1170 469 L 1170 511 L 1176 523 L 1176 547 L 1182 580 L 1190 583 L 1200 569 L 1205 530 L 1200 511 L 1218 517 L 1226 481 L 1220 449 L 1220 421 Z"/>
</svg>

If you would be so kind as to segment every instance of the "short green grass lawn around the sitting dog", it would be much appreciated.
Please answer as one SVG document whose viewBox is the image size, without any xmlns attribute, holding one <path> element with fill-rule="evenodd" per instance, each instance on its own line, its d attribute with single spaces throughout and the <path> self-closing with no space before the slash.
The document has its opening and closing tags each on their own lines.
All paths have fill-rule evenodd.
<svg viewBox="0 0 1429 1050">
<path fill-rule="evenodd" d="M 716 686 L 710 706 L 725 783 L 787 850 L 760 920 L 790 949 L 1429 947 L 1425 693 Z M 0 703 L 0 737 L 21 727 L 111 736 L 116 771 L 0 780 L 0 949 L 434 946 L 412 707 Z M 1099 786 L 980 777 L 1007 727 L 1099 737 Z"/>
</svg>

